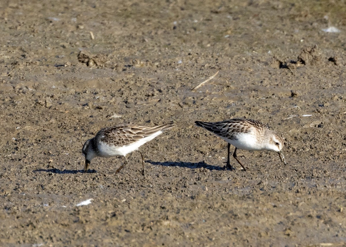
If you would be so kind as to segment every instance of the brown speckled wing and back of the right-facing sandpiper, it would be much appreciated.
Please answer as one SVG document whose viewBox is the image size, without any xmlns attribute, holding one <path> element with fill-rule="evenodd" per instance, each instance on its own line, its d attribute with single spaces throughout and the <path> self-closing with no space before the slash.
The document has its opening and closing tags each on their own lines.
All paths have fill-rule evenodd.
<svg viewBox="0 0 346 247">
<path fill-rule="evenodd" d="M 247 133 L 251 130 L 251 127 L 258 129 L 268 128 L 260 121 L 246 118 L 234 118 L 230 120 L 220 122 L 195 122 L 197 126 L 201 126 L 213 132 L 217 136 L 226 137 L 230 140 L 236 139 L 237 133 Z"/>
</svg>

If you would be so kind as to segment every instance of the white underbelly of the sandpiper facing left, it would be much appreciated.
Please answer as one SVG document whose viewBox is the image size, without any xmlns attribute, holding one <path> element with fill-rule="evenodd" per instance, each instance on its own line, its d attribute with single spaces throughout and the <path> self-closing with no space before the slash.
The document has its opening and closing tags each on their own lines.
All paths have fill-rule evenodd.
<svg viewBox="0 0 346 247">
<path fill-rule="evenodd" d="M 104 142 L 100 142 L 98 149 L 99 153 L 98 156 L 100 157 L 112 157 L 112 156 L 125 156 L 134 150 L 138 150 L 140 146 L 143 144 L 147 143 L 148 141 L 154 139 L 156 136 L 160 135 L 162 131 L 157 131 L 151 136 L 144 137 L 143 139 L 138 140 L 137 142 L 126 145 L 126 146 L 114 146 L 114 145 L 109 145 Z"/>
</svg>

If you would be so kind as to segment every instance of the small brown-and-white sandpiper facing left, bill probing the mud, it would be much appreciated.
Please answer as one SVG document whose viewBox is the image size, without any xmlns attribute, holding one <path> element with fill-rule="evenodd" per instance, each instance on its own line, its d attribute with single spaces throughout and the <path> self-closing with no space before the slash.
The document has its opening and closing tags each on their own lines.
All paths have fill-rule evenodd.
<svg viewBox="0 0 346 247">
<path fill-rule="evenodd" d="M 126 155 L 137 150 L 142 156 L 142 175 L 144 175 L 144 157 L 138 148 L 160 135 L 162 131 L 173 127 L 173 123 L 158 126 L 123 124 L 101 129 L 95 137 L 85 141 L 83 145 L 84 172 L 88 172 L 89 164 L 95 157 L 124 156 L 125 163 L 115 172 L 118 173 L 127 164 Z"/>
</svg>

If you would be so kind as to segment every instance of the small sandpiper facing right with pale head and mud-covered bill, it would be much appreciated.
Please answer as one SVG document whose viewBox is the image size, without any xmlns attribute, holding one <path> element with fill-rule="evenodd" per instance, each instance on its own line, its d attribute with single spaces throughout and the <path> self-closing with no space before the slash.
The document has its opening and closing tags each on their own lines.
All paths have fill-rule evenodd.
<svg viewBox="0 0 346 247">
<path fill-rule="evenodd" d="M 246 118 L 234 118 L 220 122 L 195 121 L 196 126 L 203 127 L 228 142 L 227 162 L 225 169 L 232 169 L 229 163 L 229 148 L 235 146 L 233 157 L 243 167 L 237 158 L 237 149 L 248 151 L 272 150 L 279 154 L 281 161 L 286 165 L 281 149 L 284 139 L 270 130 L 260 121 Z"/>
</svg>

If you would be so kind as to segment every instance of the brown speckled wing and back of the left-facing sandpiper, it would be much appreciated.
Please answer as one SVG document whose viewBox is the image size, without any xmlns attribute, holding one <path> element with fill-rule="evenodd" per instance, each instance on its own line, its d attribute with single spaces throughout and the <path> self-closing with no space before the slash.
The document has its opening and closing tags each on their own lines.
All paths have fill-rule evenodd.
<svg viewBox="0 0 346 247">
<path fill-rule="evenodd" d="M 144 137 L 153 135 L 160 130 L 166 130 L 174 127 L 173 123 L 158 126 L 140 126 L 140 125 L 117 125 L 101 129 L 95 136 L 106 143 L 115 146 L 126 146 L 136 143 Z"/>
</svg>

